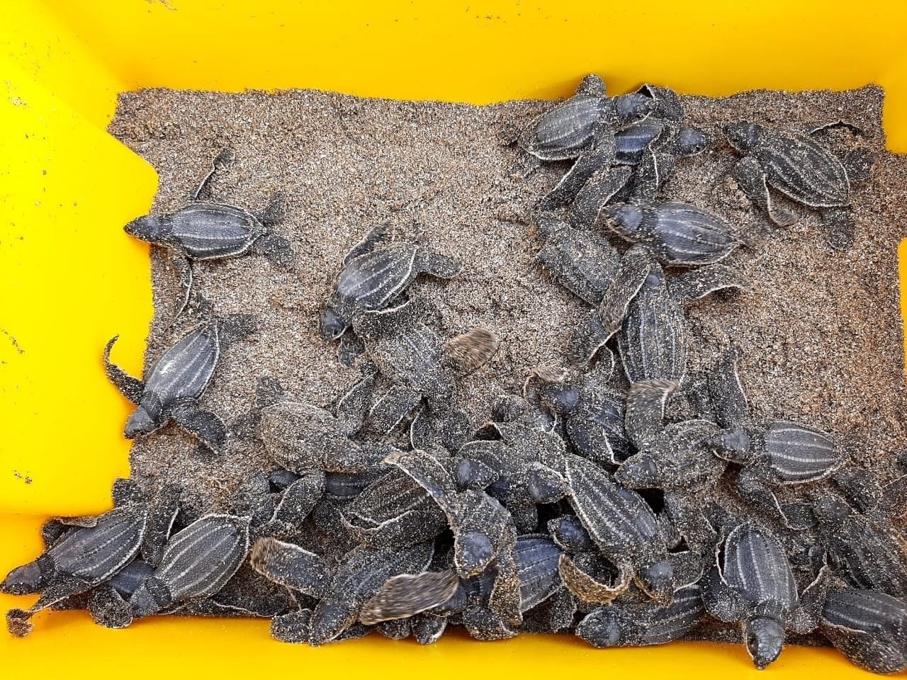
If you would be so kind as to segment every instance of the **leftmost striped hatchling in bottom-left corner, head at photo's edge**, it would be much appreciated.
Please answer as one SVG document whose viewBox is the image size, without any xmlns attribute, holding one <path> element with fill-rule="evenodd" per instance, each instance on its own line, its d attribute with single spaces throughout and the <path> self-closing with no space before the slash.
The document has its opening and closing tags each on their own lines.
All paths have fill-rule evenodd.
<svg viewBox="0 0 907 680">
<path fill-rule="evenodd" d="M 40 557 L 10 571 L 0 592 L 41 594 L 32 607 L 7 613 L 10 633 L 27 636 L 35 613 L 91 590 L 129 564 L 141 549 L 149 512 L 147 503 L 114 508 L 93 518 L 89 526 L 66 530 Z"/>
</svg>

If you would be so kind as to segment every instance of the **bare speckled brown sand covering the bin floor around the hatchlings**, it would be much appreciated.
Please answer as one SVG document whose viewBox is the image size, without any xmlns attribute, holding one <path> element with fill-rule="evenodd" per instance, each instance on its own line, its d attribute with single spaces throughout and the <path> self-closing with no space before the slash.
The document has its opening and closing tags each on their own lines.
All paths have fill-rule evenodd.
<svg viewBox="0 0 907 680">
<path fill-rule="evenodd" d="M 896 259 L 907 224 L 907 158 L 884 151 L 883 92 L 759 91 L 684 103 L 688 121 L 719 141 L 678 164 L 665 196 L 712 209 L 739 230 L 746 246 L 726 262 L 747 287 L 735 299 L 688 307 L 689 370 L 711 364 L 730 343 L 739 345 L 756 419 L 786 418 L 832 432 L 849 465 L 891 478 L 892 455 L 905 447 L 907 434 Z M 320 340 L 317 314 L 348 249 L 385 222 L 397 238 L 419 238 L 463 260 L 460 277 L 420 279 L 410 290 L 438 306 L 442 333 L 482 326 L 501 338 L 493 360 L 461 384 L 474 423 L 488 417 L 496 395 L 518 393 L 533 366 L 565 364 L 571 328 L 588 307 L 535 264 L 541 244 L 524 219 L 565 167 L 515 180 L 510 170 L 517 156 L 496 141 L 506 123 L 528 122 L 549 106 L 313 91 L 122 94 L 110 130 L 159 172 L 152 212 L 184 205 L 224 145 L 237 160 L 214 181 L 217 200 L 254 211 L 275 191 L 288 195 L 288 219 L 275 231 L 291 239 L 297 270 L 256 256 L 194 267 L 195 286 L 219 314 L 252 313 L 259 321 L 256 335 L 228 348 L 202 405 L 231 422 L 254 406 L 264 376 L 278 377 L 293 399 L 335 403 L 359 373 L 337 362 L 336 344 Z M 737 156 L 720 141 L 719 126 L 741 119 L 796 131 L 844 119 L 865 131 L 865 138 L 847 133 L 842 139 L 875 153 L 872 181 L 853 191 L 854 248 L 826 246 L 817 214 L 803 207 L 791 205 L 799 217 L 791 228 L 766 225 L 727 177 Z M 146 367 L 187 327 L 169 328 L 176 278 L 167 251 L 151 253 L 156 313 Z M 256 442 L 234 442 L 211 458 L 173 426 L 137 440 L 131 461 L 133 476 L 150 488 L 180 481 L 197 510 L 225 507 L 239 481 L 272 467 Z M 727 488 L 722 494 L 731 498 Z M 735 634 L 709 629 L 703 635 Z"/>
</svg>

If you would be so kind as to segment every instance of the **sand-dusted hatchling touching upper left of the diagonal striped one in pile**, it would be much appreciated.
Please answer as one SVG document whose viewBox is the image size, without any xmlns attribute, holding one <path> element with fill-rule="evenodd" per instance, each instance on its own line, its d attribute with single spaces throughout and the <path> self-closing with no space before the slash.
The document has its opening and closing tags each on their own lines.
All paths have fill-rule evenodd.
<svg viewBox="0 0 907 680">
<path fill-rule="evenodd" d="M 561 437 L 524 423 L 491 423 L 499 440 L 477 440 L 460 447 L 463 458 L 479 461 L 497 473 L 488 492 L 501 500 L 518 530 L 538 524 L 537 503 L 554 503 L 567 492 Z"/>
</svg>

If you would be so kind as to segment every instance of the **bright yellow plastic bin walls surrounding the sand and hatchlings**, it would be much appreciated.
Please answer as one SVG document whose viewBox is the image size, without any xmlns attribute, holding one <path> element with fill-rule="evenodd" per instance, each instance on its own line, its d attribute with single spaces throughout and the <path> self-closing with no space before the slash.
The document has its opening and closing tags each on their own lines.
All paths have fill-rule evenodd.
<svg viewBox="0 0 907 680">
<path fill-rule="evenodd" d="M 104 342 L 141 373 L 151 318 L 148 250 L 122 232 L 145 212 L 153 170 L 110 137 L 116 93 L 142 87 L 312 87 L 497 102 L 569 94 L 582 73 L 611 92 L 756 87 L 887 92 L 892 151 L 907 151 L 907 4 L 727 0 L 635 3 L 0 3 L 0 573 L 33 559 L 55 514 L 110 506 L 128 472 L 128 405 L 107 384 Z M 892 253 L 892 257 L 896 257 Z M 0 597 L 0 607 L 23 598 Z M 727 677 L 756 674 L 740 646 L 596 651 L 570 636 L 436 645 L 377 636 L 321 649 L 274 643 L 264 621 L 161 618 L 122 631 L 83 612 L 0 633 L 0 677 L 299 674 Z M 774 677 L 852 677 L 834 650 L 792 647 Z"/>
</svg>

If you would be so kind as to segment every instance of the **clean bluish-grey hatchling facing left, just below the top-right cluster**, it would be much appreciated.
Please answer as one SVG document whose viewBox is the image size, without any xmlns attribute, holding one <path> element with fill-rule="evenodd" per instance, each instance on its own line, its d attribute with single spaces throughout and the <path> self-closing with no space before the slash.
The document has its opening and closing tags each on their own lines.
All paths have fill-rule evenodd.
<svg viewBox="0 0 907 680">
<path fill-rule="evenodd" d="M 740 245 L 724 219 L 678 200 L 612 205 L 604 215 L 620 238 L 645 244 L 665 265 L 712 265 Z"/>
</svg>

